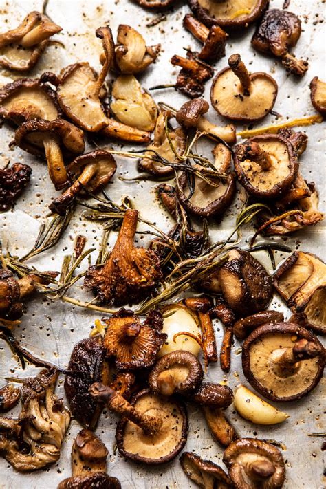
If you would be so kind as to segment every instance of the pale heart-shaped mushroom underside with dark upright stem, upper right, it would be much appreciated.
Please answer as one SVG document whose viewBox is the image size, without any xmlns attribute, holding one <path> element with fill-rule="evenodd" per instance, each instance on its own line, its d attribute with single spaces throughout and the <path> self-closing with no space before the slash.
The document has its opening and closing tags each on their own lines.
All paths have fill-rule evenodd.
<svg viewBox="0 0 326 489">
<path fill-rule="evenodd" d="M 240 54 L 228 58 L 210 89 L 210 101 L 220 116 L 240 122 L 261 120 L 274 107 L 277 83 L 267 73 L 250 74 Z"/>
</svg>

